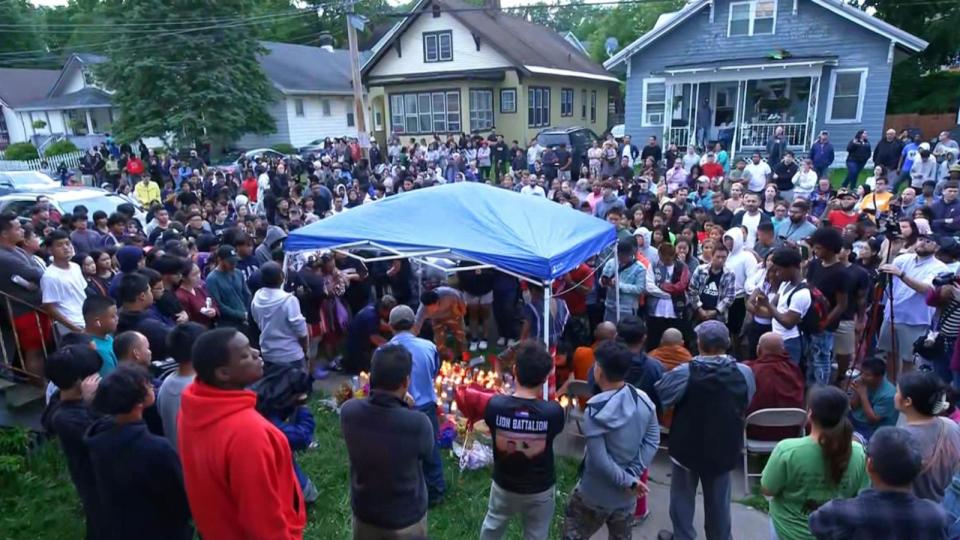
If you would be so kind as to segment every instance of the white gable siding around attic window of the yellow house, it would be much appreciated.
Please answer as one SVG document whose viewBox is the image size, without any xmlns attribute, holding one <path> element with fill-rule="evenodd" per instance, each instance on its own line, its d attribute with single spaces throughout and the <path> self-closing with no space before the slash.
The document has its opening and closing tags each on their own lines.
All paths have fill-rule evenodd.
<svg viewBox="0 0 960 540">
<path fill-rule="evenodd" d="M 453 60 L 424 62 L 423 33 L 443 30 L 452 31 Z M 402 56 L 397 54 L 397 46 L 394 44 L 383 53 L 383 57 L 370 70 L 369 76 L 511 67 L 510 62 L 490 43 L 481 41 L 478 51 L 470 30 L 448 13 L 441 13 L 439 17 L 434 17 L 429 12 L 420 15 L 398 41 Z"/>
</svg>

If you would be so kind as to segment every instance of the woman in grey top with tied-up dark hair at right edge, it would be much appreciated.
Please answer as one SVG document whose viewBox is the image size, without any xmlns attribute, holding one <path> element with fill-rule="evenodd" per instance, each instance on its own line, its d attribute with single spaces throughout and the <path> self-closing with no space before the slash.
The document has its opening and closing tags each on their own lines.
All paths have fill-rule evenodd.
<svg viewBox="0 0 960 540">
<path fill-rule="evenodd" d="M 950 408 L 946 386 L 932 371 L 904 373 L 897 381 L 893 404 L 906 419 L 902 427 L 913 435 L 923 456 L 913 494 L 939 503 L 960 471 L 960 426 L 941 416 Z"/>
</svg>

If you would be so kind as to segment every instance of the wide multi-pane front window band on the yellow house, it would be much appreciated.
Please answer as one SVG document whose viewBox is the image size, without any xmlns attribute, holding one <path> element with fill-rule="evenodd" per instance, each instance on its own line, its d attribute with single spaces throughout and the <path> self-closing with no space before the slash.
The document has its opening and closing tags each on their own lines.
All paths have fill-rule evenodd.
<svg viewBox="0 0 960 540">
<path fill-rule="evenodd" d="M 460 92 L 391 94 L 390 129 L 393 133 L 414 135 L 459 132 Z"/>
</svg>

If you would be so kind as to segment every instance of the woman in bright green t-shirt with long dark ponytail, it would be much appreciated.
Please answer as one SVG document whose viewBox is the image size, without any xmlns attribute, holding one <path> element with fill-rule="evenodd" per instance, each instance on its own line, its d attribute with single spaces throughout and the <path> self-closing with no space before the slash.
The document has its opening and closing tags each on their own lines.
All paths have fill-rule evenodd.
<svg viewBox="0 0 960 540">
<path fill-rule="evenodd" d="M 847 395 L 817 386 L 807 402 L 806 437 L 777 443 L 760 479 L 770 501 L 770 522 L 779 540 L 812 539 L 810 512 L 832 499 L 856 496 L 869 487 L 866 453 L 853 440 Z"/>
</svg>

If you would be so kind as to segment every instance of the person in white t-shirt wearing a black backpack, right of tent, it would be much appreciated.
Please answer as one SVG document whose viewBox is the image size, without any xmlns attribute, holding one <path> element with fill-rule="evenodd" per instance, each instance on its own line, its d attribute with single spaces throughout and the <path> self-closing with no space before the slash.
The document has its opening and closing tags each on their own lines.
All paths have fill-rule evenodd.
<svg viewBox="0 0 960 540">
<path fill-rule="evenodd" d="M 801 279 L 801 261 L 800 252 L 794 248 L 783 247 L 774 251 L 770 255 L 772 266 L 767 272 L 777 292 L 770 298 L 764 294 L 758 294 L 756 298 L 759 307 L 776 306 L 776 309 L 769 310 L 773 332 L 783 338 L 790 360 L 797 365 L 808 348 L 804 346 L 805 342 L 809 341 L 807 336 L 800 335 L 800 321 L 812 303 L 810 289 Z"/>
</svg>

